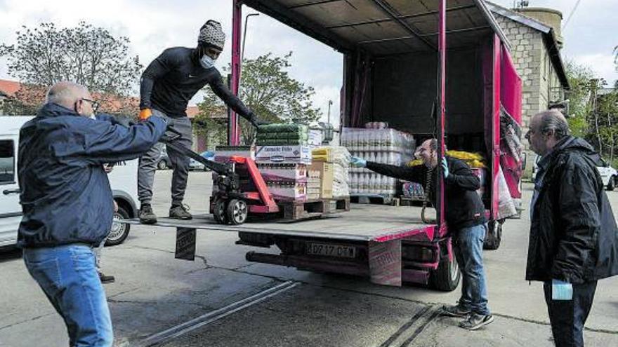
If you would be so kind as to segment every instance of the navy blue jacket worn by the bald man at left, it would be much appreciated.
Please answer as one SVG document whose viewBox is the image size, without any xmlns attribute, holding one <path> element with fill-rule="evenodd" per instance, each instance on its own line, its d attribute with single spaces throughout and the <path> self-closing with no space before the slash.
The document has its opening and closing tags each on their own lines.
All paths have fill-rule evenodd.
<svg viewBox="0 0 618 347">
<path fill-rule="evenodd" d="M 166 129 L 156 116 L 129 128 L 112 121 L 46 104 L 22 126 L 18 246 L 99 245 L 107 236 L 114 205 L 103 164 L 138 158 Z"/>
</svg>

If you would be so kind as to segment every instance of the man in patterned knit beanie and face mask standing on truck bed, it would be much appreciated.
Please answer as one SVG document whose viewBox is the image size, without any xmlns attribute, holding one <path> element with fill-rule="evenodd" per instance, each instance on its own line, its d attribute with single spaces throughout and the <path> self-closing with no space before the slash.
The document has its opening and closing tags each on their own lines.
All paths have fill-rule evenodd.
<svg viewBox="0 0 618 347">
<path fill-rule="evenodd" d="M 185 110 L 189 100 L 206 84 L 237 114 L 254 126 L 263 123 L 225 86 L 214 62 L 221 54 L 225 33 L 221 24 L 209 20 L 199 29 L 197 48 L 174 47 L 163 51 L 153 60 L 142 75 L 140 83 L 140 119 L 151 114 L 168 119 L 170 127 L 180 132 L 176 144 L 190 149 L 192 145 L 191 121 Z M 171 207 L 169 217 L 191 219 L 188 208 L 183 205 L 189 172 L 189 158 L 167 148 L 173 166 L 171 182 Z M 140 199 L 140 222 L 155 224 L 157 216 L 152 212 L 152 184 L 159 151 L 152 148 L 140 158 L 138 170 L 138 196 Z"/>
</svg>

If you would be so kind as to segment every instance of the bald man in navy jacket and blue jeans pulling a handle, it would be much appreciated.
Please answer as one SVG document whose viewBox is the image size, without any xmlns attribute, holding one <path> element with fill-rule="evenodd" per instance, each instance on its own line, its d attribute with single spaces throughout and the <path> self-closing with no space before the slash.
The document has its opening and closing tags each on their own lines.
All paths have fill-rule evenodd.
<svg viewBox="0 0 618 347">
<path fill-rule="evenodd" d="M 138 158 L 167 126 L 156 116 L 129 128 L 110 116 L 93 119 L 94 104 L 83 86 L 57 83 L 20 130 L 18 246 L 30 275 L 65 320 L 70 346 L 113 343 L 92 250 L 112 226 L 114 203 L 103 164 Z"/>
</svg>

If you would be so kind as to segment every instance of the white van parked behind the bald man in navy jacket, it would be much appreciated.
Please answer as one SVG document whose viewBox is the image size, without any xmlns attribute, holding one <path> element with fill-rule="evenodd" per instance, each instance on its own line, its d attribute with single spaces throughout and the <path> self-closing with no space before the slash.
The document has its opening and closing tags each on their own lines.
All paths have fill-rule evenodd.
<svg viewBox="0 0 618 347">
<path fill-rule="evenodd" d="M 22 219 L 17 177 L 19 131 L 32 116 L 0 116 L 0 247 L 17 243 L 17 231 Z M 138 215 L 138 161 L 117 163 L 110 172 L 110 185 L 118 212 L 114 219 Z M 130 224 L 114 223 L 105 245 L 119 245 L 129 235 Z"/>
</svg>

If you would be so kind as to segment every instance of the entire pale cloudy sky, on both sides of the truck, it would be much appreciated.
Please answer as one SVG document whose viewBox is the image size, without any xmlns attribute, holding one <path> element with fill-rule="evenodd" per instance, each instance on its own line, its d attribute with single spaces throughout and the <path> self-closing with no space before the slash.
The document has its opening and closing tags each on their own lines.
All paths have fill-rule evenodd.
<svg viewBox="0 0 618 347">
<path fill-rule="evenodd" d="M 512 6 L 512 0 L 497 0 L 497 4 Z M 530 0 L 530 6 L 544 6 L 562 11 L 563 24 L 577 0 Z M 86 6 L 88 4 L 88 6 Z M 110 29 L 113 34 L 131 40 L 133 55 L 143 64 L 171 46 L 195 46 L 197 29 L 213 18 L 231 34 L 232 2 L 230 0 L 0 0 L 0 42 L 13 43 L 15 31 L 22 25 L 36 26 L 54 22 L 59 27 L 74 26 L 80 20 Z M 253 13 L 244 7 L 244 14 Z M 618 45 L 617 0 L 581 0 L 563 32 L 565 60 L 589 65 L 610 83 L 618 79 L 614 71 L 612 49 Z M 218 61 L 221 67 L 230 61 L 230 41 Z M 291 76 L 308 83 L 316 90 L 315 105 L 321 107 L 324 118 L 328 100 L 333 100 L 332 118 L 337 118 L 338 95 L 342 81 L 342 55 L 266 15 L 249 19 L 245 57 L 268 52 L 284 55 L 293 51 Z M 6 74 L 6 61 L 0 59 L 0 79 Z M 192 102 L 198 102 L 199 97 Z"/>
</svg>

